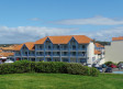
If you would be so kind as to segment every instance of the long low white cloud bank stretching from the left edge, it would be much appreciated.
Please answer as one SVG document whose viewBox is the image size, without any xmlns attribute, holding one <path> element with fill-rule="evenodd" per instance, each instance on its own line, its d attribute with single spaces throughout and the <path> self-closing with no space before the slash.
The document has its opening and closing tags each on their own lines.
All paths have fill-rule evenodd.
<svg viewBox="0 0 123 89">
<path fill-rule="evenodd" d="M 46 27 L 46 26 L 0 26 L 0 43 L 35 42 L 44 36 L 69 35 L 77 29 Z"/>
</svg>

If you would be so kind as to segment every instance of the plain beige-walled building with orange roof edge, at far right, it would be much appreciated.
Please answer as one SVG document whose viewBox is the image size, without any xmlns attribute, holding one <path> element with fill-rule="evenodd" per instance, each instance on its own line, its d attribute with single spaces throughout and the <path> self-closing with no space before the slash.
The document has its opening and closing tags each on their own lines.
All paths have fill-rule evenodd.
<svg viewBox="0 0 123 89">
<path fill-rule="evenodd" d="M 112 37 L 111 45 L 105 46 L 105 62 L 123 62 L 123 36 Z"/>
</svg>

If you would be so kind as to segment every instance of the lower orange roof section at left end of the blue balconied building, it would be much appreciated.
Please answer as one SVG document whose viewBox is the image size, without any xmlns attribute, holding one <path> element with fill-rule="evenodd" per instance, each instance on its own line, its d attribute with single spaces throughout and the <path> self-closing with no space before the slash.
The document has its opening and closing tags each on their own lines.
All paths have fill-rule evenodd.
<svg viewBox="0 0 123 89">
<path fill-rule="evenodd" d="M 30 51 L 34 49 L 34 42 L 26 42 L 26 43 L 15 46 L 14 51 L 20 51 L 24 44 Z"/>
</svg>

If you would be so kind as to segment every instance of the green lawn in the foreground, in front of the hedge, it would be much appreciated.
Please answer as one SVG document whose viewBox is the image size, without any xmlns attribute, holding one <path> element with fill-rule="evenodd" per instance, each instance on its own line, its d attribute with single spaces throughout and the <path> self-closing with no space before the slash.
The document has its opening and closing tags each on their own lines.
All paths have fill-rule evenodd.
<svg viewBox="0 0 123 89">
<path fill-rule="evenodd" d="M 67 74 L 0 75 L 0 89 L 123 89 L 123 75 L 99 77 Z"/>
</svg>

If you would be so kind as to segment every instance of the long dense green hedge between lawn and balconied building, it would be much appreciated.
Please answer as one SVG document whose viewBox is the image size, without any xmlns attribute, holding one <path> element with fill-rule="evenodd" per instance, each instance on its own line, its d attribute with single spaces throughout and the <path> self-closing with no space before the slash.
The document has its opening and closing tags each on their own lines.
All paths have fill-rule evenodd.
<svg viewBox="0 0 123 89">
<path fill-rule="evenodd" d="M 90 68 L 76 63 L 18 60 L 12 64 L 0 65 L 0 75 L 22 73 L 55 73 L 83 76 L 99 75 L 99 70 L 96 68 Z"/>
</svg>

